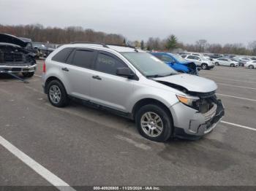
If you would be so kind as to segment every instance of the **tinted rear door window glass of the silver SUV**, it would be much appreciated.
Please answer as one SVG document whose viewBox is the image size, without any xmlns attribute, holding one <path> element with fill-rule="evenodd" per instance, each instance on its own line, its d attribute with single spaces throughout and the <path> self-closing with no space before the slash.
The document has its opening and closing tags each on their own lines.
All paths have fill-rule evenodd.
<svg viewBox="0 0 256 191">
<path fill-rule="evenodd" d="M 93 50 L 75 50 L 72 65 L 89 69 L 91 68 L 93 62 Z"/>
</svg>

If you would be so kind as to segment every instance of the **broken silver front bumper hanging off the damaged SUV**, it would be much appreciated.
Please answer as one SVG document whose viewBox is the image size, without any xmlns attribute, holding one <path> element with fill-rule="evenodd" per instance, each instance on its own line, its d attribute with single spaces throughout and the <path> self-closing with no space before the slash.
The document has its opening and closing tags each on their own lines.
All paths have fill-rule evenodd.
<svg viewBox="0 0 256 191">
<path fill-rule="evenodd" d="M 175 127 L 173 136 L 181 138 L 198 138 L 213 130 L 225 114 L 222 101 L 217 103 L 205 114 L 184 104 L 178 103 L 170 108 Z"/>
</svg>

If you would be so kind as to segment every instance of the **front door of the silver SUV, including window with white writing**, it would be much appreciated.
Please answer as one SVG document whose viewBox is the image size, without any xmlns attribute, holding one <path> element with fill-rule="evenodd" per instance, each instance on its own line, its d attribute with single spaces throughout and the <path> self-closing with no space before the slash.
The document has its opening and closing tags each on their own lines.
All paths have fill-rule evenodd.
<svg viewBox="0 0 256 191">
<path fill-rule="evenodd" d="M 116 75 L 117 68 L 128 68 L 116 55 L 99 51 L 91 72 L 91 100 L 97 104 L 127 112 L 128 96 L 134 79 Z"/>
</svg>

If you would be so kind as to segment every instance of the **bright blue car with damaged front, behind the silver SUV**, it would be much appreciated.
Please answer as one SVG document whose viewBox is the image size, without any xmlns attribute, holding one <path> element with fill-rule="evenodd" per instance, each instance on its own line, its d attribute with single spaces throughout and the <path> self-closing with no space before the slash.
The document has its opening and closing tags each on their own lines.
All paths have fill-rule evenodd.
<svg viewBox="0 0 256 191">
<path fill-rule="evenodd" d="M 169 52 L 151 52 L 151 55 L 154 55 L 161 61 L 164 61 L 168 66 L 178 72 L 198 75 L 197 66 L 195 63 L 186 61 L 179 55 L 175 55 Z"/>
</svg>

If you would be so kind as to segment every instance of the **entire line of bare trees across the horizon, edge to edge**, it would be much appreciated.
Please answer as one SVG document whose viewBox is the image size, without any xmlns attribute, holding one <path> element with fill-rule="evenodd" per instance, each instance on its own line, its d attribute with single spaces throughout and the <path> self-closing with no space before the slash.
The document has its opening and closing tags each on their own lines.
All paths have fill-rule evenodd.
<svg viewBox="0 0 256 191">
<path fill-rule="evenodd" d="M 219 54 L 234 55 L 256 55 L 256 41 L 247 46 L 241 43 L 233 44 L 211 44 L 206 39 L 200 39 L 194 44 L 179 42 L 175 35 L 165 39 L 150 37 L 146 42 L 127 41 L 121 34 L 106 34 L 102 31 L 85 29 L 80 26 L 69 26 L 66 28 L 44 27 L 40 24 L 4 26 L 0 25 L 0 33 L 32 39 L 34 42 L 50 42 L 54 44 L 67 44 L 70 42 L 102 42 L 109 44 L 131 44 L 143 50 L 187 50 L 189 52 L 211 52 Z"/>
</svg>

